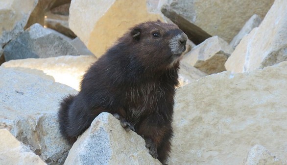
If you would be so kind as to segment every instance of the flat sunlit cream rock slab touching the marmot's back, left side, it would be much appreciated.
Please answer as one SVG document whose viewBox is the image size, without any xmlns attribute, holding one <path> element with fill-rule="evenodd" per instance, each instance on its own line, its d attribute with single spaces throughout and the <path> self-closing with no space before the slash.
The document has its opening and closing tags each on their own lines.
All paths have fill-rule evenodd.
<svg viewBox="0 0 287 165">
<path fill-rule="evenodd" d="M 63 83 L 79 90 L 82 76 L 95 61 L 96 57 L 94 55 L 65 55 L 50 58 L 11 60 L 3 63 L 1 67 L 33 73 L 44 79 Z"/>
</svg>

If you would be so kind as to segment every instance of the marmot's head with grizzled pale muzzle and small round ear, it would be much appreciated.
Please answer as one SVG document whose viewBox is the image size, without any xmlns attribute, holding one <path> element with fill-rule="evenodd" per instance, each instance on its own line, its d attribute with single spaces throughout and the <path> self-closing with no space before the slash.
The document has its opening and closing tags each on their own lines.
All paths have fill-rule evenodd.
<svg viewBox="0 0 287 165">
<path fill-rule="evenodd" d="M 130 30 L 120 39 L 127 44 L 131 58 L 152 70 L 178 65 L 187 52 L 187 35 L 174 24 L 161 21 L 145 22 Z"/>
</svg>

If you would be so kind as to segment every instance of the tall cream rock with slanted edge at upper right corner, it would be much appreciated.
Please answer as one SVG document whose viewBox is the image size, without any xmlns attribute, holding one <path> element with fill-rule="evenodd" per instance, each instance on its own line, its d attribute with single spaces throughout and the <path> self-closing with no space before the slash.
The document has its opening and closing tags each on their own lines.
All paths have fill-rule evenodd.
<svg viewBox="0 0 287 165">
<path fill-rule="evenodd" d="M 227 70 L 247 72 L 287 60 L 286 6 L 286 0 L 275 0 L 260 26 L 243 37 L 228 58 Z"/>
</svg>

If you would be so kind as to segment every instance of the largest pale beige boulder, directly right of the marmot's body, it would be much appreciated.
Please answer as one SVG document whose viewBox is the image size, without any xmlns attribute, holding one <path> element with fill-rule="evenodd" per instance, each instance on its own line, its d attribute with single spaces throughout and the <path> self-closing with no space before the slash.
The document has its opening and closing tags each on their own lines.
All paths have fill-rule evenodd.
<svg viewBox="0 0 287 165">
<path fill-rule="evenodd" d="M 168 165 L 240 165 L 255 144 L 287 162 L 287 61 L 177 89 Z"/>
</svg>

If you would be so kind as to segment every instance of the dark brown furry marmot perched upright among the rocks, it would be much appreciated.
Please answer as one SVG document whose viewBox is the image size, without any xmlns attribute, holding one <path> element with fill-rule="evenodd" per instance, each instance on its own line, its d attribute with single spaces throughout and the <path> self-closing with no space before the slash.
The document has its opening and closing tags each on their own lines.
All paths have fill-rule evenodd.
<svg viewBox="0 0 287 165">
<path fill-rule="evenodd" d="M 129 29 L 84 75 L 77 95 L 63 99 L 60 131 L 74 142 L 101 112 L 142 136 L 164 163 L 170 152 L 175 86 L 187 35 L 176 25 L 145 22 Z"/>
</svg>

